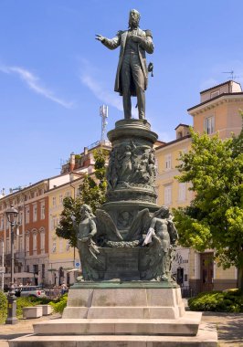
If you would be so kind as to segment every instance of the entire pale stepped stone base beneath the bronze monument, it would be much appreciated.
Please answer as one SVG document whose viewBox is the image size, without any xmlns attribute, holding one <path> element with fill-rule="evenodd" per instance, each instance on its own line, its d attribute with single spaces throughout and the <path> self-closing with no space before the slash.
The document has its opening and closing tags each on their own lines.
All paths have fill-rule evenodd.
<svg viewBox="0 0 243 347">
<path fill-rule="evenodd" d="M 164 282 L 81 282 L 62 319 L 34 324 L 10 347 L 217 346 L 216 328 L 185 311 L 179 288 Z"/>
</svg>

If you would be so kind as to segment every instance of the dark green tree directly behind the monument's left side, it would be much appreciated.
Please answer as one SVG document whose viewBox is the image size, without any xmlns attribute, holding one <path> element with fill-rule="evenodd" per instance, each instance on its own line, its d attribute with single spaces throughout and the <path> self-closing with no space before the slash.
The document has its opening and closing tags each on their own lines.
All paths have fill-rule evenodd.
<svg viewBox="0 0 243 347">
<path fill-rule="evenodd" d="M 56 229 L 58 237 L 69 239 L 71 247 L 77 247 L 76 231 L 73 227 L 72 216 L 75 216 L 76 223 L 80 222 L 80 206 L 83 204 L 90 205 L 92 211 L 100 207 L 105 202 L 105 193 L 107 182 L 106 158 L 107 150 L 96 150 L 93 152 L 95 164 L 94 173 L 86 174 L 82 184 L 79 185 L 80 195 L 76 198 L 71 196 L 63 199 L 63 211 L 60 216 L 60 223 Z"/>
</svg>

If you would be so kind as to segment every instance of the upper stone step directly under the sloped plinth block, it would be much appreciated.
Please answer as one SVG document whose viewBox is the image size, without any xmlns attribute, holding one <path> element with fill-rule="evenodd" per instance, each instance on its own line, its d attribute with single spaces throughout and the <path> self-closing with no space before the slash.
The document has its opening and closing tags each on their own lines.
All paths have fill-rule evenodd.
<svg viewBox="0 0 243 347">
<path fill-rule="evenodd" d="M 176 320 L 166 319 L 59 319 L 34 324 L 38 335 L 196 335 L 200 312 L 186 312 Z"/>
</svg>

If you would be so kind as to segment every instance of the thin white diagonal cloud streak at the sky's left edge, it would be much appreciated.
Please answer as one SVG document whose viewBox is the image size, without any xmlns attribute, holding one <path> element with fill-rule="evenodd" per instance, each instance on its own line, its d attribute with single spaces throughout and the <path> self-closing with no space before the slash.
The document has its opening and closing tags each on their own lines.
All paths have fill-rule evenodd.
<svg viewBox="0 0 243 347">
<path fill-rule="evenodd" d="M 26 70 L 26 68 L 7 67 L 0 65 L 0 71 L 6 74 L 16 74 L 20 79 L 24 80 L 24 82 L 30 89 L 34 90 L 37 94 L 40 94 L 49 100 L 57 102 L 59 105 L 65 107 L 66 109 L 70 109 L 73 106 L 72 102 L 67 102 L 65 100 L 59 99 L 54 95 L 53 91 L 42 87 L 37 76 L 35 76 L 32 72 Z"/>
</svg>

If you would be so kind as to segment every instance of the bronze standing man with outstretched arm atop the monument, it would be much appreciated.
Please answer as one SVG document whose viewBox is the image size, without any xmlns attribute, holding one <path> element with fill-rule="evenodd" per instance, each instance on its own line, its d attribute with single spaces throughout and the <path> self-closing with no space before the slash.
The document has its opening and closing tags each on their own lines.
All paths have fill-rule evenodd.
<svg viewBox="0 0 243 347">
<path fill-rule="evenodd" d="M 125 119 L 132 118 L 131 97 L 137 96 L 139 118 L 145 118 L 145 94 L 148 84 L 148 69 L 145 52 L 153 53 L 153 37 L 150 30 L 139 27 L 140 14 L 131 10 L 129 16 L 129 29 L 119 31 L 111 39 L 97 35 L 104 46 L 115 49 L 121 46 L 119 63 L 115 80 L 115 91 L 123 98 Z"/>
</svg>

